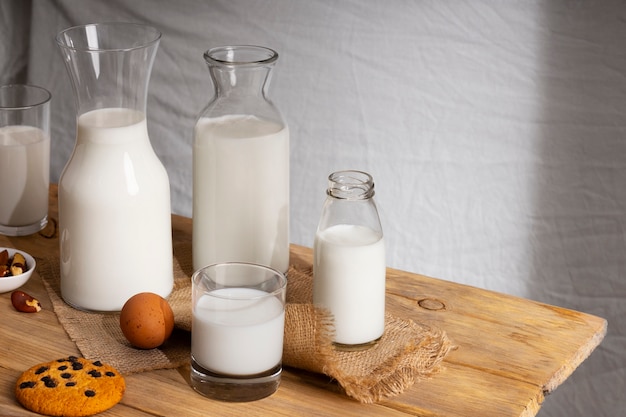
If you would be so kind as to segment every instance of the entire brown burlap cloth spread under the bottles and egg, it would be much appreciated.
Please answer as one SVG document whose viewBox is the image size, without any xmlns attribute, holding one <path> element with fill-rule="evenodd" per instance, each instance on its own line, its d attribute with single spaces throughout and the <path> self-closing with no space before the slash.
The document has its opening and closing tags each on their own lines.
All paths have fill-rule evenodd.
<svg viewBox="0 0 626 417">
<path fill-rule="evenodd" d="M 174 248 L 174 290 L 168 298 L 174 311 L 174 333 L 163 346 L 150 350 L 135 349 L 128 343 L 120 330 L 119 313 L 89 313 L 67 305 L 60 294 L 58 260 L 41 259 L 38 265 L 54 311 L 84 357 L 109 363 L 125 374 L 189 363 L 190 244 Z M 311 299 L 311 271 L 291 267 L 283 365 L 326 374 L 360 402 L 373 403 L 401 394 L 417 380 L 437 372 L 451 348 L 443 331 L 387 314 L 385 333 L 376 345 L 357 352 L 335 350 L 332 315 L 314 307 Z"/>
</svg>

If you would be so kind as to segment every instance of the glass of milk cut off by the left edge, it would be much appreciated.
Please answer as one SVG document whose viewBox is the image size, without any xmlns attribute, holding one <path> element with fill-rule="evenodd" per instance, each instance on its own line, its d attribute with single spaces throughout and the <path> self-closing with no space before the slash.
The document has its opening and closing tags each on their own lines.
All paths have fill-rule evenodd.
<svg viewBox="0 0 626 417">
<path fill-rule="evenodd" d="M 48 223 L 50 93 L 0 87 L 0 233 L 23 236 Z"/>
</svg>

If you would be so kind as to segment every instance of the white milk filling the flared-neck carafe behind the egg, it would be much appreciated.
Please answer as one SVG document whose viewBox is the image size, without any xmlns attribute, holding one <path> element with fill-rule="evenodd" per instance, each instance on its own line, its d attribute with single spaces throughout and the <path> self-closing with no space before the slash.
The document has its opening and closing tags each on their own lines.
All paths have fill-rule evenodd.
<svg viewBox="0 0 626 417">
<path fill-rule="evenodd" d="M 82 309 L 115 311 L 139 292 L 168 296 L 169 180 L 143 113 L 85 113 L 76 136 L 59 184 L 63 298 Z"/>
</svg>

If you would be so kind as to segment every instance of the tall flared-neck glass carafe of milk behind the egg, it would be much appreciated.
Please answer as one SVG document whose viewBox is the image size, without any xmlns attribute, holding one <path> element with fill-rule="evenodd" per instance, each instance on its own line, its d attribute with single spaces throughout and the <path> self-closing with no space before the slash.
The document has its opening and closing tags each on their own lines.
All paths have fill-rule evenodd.
<svg viewBox="0 0 626 417">
<path fill-rule="evenodd" d="M 92 311 L 173 287 L 169 179 L 146 125 L 161 34 L 131 23 L 77 26 L 57 45 L 77 107 L 76 144 L 59 180 L 61 295 Z"/>
</svg>

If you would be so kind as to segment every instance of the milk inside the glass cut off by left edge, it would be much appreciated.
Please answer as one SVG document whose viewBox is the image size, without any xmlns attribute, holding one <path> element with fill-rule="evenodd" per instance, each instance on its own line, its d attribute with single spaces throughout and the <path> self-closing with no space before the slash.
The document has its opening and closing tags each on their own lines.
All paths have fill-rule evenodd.
<svg viewBox="0 0 626 417">
<path fill-rule="evenodd" d="M 0 127 L 0 224 L 27 226 L 48 214 L 50 137 L 31 126 Z"/>
</svg>

